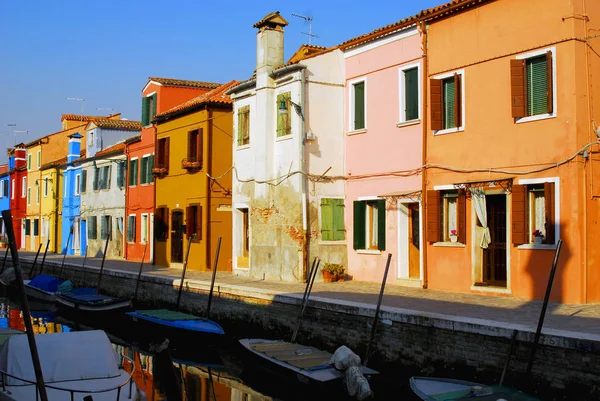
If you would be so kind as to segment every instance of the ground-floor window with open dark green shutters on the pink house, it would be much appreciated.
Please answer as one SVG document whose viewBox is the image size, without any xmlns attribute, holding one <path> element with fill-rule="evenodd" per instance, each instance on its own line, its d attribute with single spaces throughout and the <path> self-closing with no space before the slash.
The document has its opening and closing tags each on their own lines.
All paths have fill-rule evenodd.
<svg viewBox="0 0 600 401">
<path fill-rule="evenodd" d="M 354 249 L 385 249 L 385 200 L 354 201 Z"/>
</svg>

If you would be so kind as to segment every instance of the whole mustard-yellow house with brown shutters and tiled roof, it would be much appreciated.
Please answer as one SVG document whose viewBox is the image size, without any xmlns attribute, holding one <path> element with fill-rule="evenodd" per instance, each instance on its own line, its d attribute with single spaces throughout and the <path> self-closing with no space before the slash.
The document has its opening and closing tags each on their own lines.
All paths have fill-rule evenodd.
<svg viewBox="0 0 600 401">
<path fill-rule="evenodd" d="M 233 117 L 225 92 L 237 84 L 221 85 L 153 120 L 156 265 L 181 266 L 191 242 L 188 268 L 212 270 L 221 237 L 217 270 L 231 269 Z M 139 168 L 142 175 L 147 169 Z M 137 171 L 132 160 L 128 170 L 132 184 L 137 183 Z M 135 226 L 135 221 L 127 226 Z M 128 230 L 127 237 L 136 241 L 135 231 Z"/>
</svg>

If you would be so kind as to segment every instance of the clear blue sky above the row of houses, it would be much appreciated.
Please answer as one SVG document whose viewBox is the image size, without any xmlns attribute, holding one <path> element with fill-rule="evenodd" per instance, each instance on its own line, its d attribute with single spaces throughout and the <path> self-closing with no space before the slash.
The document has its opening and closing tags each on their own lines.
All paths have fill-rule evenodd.
<svg viewBox="0 0 600 401">
<path fill-rule="evenodd" d="M 60 130 L 64 113 L 120 112 L 139 120 L 149 76 L 228 82 L 249 78 L 256 62 L 252 25 L 280 11 L 285 57 L 308 37 L 291 14 L 312 16 L 312 44 L 332 46 L 396 22 L 440 0 L 362 3 L 204 0 L 0 0 L 0 164 L 6 147 Z M 250 6 L 250 4 L 252 4 Z M 100 109 L 100 110 L 99 110 Z M 102 110 L 102 109 L 114 109 Z"/>
</svg>

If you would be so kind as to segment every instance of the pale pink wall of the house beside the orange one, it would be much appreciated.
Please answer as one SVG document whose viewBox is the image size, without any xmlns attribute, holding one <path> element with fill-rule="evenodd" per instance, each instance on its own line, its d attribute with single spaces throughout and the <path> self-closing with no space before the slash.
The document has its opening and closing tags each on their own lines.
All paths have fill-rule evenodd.
<svg viewBox="0 0 600 401">
<path fill-rule="evenodd" d="M 372 45 L 373 43 L 368 44 Z M 353 249 L 354 201 L 402 190 L 419 190 L 421 176 L 398 177 L 394 171 L 415 169 L 422 162 L 422 126 L 398 128 L 399 68 L 420 63 L 421 36 L 415 34 L 348 57 L 346 52 L 345 118 L 349 131 L 349 88 L 366 77 L 366 131 L 346 136 L 346 232 L 348 274 L 354 280 L 381 281 L 388 253 L 392 254 L 388 281 L 398 277 L 398 214 L 396 202 L 386 205 L 386 249 L 381 254 Z M 423 69 L 421 67 L 421 74 Z M 375 176 L 376 175 L 376 176 Z M 364 177 L 361 177 L 364 176 Z"/>
</svg>

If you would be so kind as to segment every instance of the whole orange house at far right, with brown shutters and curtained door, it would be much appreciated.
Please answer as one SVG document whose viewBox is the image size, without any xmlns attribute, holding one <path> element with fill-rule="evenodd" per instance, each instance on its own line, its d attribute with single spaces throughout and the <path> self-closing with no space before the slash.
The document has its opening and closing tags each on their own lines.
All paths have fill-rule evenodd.
<svg viewBox="0 0 600 401">
<path fill-rule="evenodd" d="M 459 0 L 430 10 L 432 289 L 600 301 L 600 2 Z M 596 50 L 594 50 L 596 49 Z"/>
</svg>

